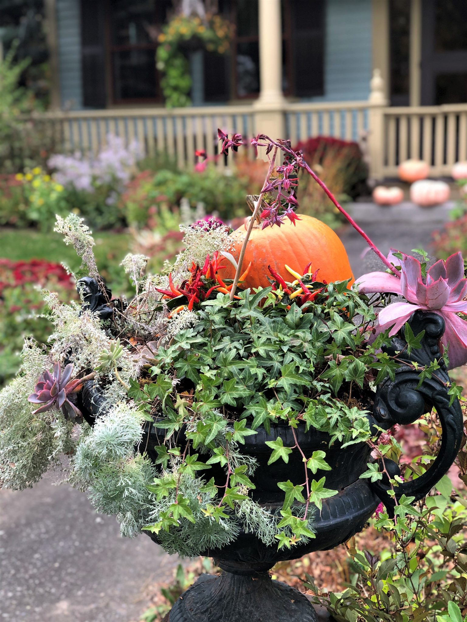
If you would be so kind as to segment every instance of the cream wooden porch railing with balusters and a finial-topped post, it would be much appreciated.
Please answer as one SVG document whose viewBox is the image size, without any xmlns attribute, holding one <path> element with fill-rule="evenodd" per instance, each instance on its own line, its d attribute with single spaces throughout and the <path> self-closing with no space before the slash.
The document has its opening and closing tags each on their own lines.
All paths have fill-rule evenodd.
<svg viewBox="0 0 467 622">
<path fill-rule="evenodd" d="M 467 103 L 391 108 L 377 70 L 370 86 L 367 101 L 286 103 L 272 111 L 258 105 L 73 111 L 39 114 L 35 122 L 50 124 L 64 151 L 96 152 L 111 133 L 127 143 L 137 139 L 149 156 L 166 152 L 181 168 L 194 165 L 197 150 L 219 153 L 217 128 L 250 138 L 265 126 L 271 137 L 286 136 L 293 145 L 312 136 L 366 137 L 373 179 L 396 177 L 408 157 L 428 162 L 432 176 L 449 175 L 455 162 L 467 159 Z M 232 161 L 219 158 L 217 165 Z"/>
</svg>

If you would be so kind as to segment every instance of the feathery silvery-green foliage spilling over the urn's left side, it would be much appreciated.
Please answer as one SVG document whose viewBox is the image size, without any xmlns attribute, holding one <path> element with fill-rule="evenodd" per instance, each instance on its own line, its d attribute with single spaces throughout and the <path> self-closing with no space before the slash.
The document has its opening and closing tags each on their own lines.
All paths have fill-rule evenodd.
<svg viewBox="0 0 467 622">
<path fill-rule="evenodd" d="M 98 277 L 93 255 L 94 240 L 82 219 L 76 215 L 57 218 L 55 230 L 64 234 L 66 244 L 75 247 L 88 274 Z M 174 271 L 177 278 L 187 274 L 192 261 L 198 261 L 227 244 L 228 231 L 219 226 L 211 228 L 206 223 L 203 234 L 198 236 L 189 226 L 184 231 L 186 250 L 176 259 Z M 197 322 L 196 313 L 187 310 L 167 320 L 167 307 L 155 290 L 155 287 L 167 286 L 167 274 L 143 276 L 146 264 L 143 256 L 127 256 L 122 264 L 138 287 L 136 302 L 141 301 L 138 311 L 141 313 L 156 305 L 161 308 L 150 323 L 144 322 L 144 313 L 132 317 L 132 310 L 128 309 L 126 317 L 122 314 L 116 317 L 122 327 L 126 326 L 135 334 L 141 333 L 148 338 L 162 333 L 170 339 Z M 116 514 L 122 534 L 134 536 L 148 524 L 151 513 L 155 511 L 153 495 L 146 488 L 153 481 L 154 467 L 147 458 L 134 452 L 135 445 L 141 440 L 144 422 L 138 411 L 127 403 L 126 390 L 115 378 L 113 370 L 108 369 L 105 374 L 97 373 L 97 380 L 100 375 L 103 380 L 108 411 L 92 429 L 85 422 L 73 430 L 72 422 L 65 421 L 60 411 L 33 415 L 34 406 L 27 401 L 41 370 L 51 369 L 57 361 L 66 364 L 68 360 L 73 361 L 77 373 L 95 369 L 101 353 L 110 350 L 115 338 L 108 333 L 97 315 L 81 312 L 80 305 L 74 302 L 61 304 L 57 295 L 45 290 L 44 299 L 55 327 L 49 345 L 42 347 L 27 338 L 19 376 L 1 391 L 0 487 L 21 490 L 32 486 L 50 466 L 61 466 L 62 454 L 73 455 L 68 481 L 87 490 L 99 511 Z M 124 349 L 118 360 L 120 378 L 125 383 L 138 378 L 141 364 L 134 353 Z M 196 483 L 187 482 L 184 488 L 190 486 L 194 494 Z M 227 535 L 225 529 L 220 527 L 213 538 L 220 544 L 230 541 L 234 535 L 233 531 Z M 190 541 L 185 535 L 182 537 L 187 541 L 184 551 L 192 553 L 196 539 Z M 205 538 L 209 541 L 207 535 Z M 179 536 L 171 544 L 167 542 L 167 546 L 179 550 Z"/>
</svg>

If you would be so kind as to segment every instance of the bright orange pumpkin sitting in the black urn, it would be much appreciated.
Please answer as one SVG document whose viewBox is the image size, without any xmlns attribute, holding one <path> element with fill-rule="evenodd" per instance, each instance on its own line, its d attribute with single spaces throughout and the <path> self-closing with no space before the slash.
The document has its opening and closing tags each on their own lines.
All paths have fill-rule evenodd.
<svg viewBox="0 0 467 622">
<path fill-rule="evenodd" d="M 261 225 L 253 226 L 248 239 L 242 268 L 245 270 L 252 262 L 252 267 L 241 287 L 269 287 L 268 266 L 278 272 L 285 281 L 293 281 L 293 277 L 285 268 L 285 264 L 299 274 L 303 274 L 305 266 L 311 261 L 313 271 L 319 268 L 317 281 L 345 281 L 352 279 L 352 270 L 347 257 L 346 249 L 336 233 L 312 216 L 298 214 L 301 220 L 295 221 L 295 226 L 285 218 L 283 225 L 274 225 L 265 229 Z M 242 243 L 247 234 L 250 218 L 234 233 L 230 234 L 232 246 L 230 253 L 238 261 Z M 235 268 L 229 261 L 221 270 L 222 279 L 234 279 Z"/>
</svg>

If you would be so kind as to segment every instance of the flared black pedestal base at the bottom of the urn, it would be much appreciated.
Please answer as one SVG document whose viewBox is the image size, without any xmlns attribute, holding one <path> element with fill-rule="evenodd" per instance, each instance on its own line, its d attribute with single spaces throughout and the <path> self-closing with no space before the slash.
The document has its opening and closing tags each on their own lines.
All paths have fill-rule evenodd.
<svg viewBox="0 0 467 622">
<path fill-rule="evenodd" d="M 267 572 L 202 575 L 177 600 L 169 622 L 318 622 L 313 605 Z"/>
</svg>

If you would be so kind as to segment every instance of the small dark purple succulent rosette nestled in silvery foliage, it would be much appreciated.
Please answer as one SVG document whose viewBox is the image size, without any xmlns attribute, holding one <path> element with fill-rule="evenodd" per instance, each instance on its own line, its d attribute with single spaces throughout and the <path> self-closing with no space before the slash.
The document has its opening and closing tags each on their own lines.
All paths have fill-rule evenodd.
<svg viewBox="0 0 467 622">
<path fill-rule="evenodd" d="M 44 371 L 39 376 L 34 393 L 27 398 L 32 404 L 40 404 L 33 414 L 49 411 L 55 405 L 57 409 L 62 409 L 67 419 L 82 417 L 81 411 L 70 399 L 79 390 L 81 383 L 78 379 L 71 380 L 72 374 L 72 363 L 68 363 L 64 371 L 61 370 L 60 363 L 55 363 L 52 373 Z"/>
</svg>

